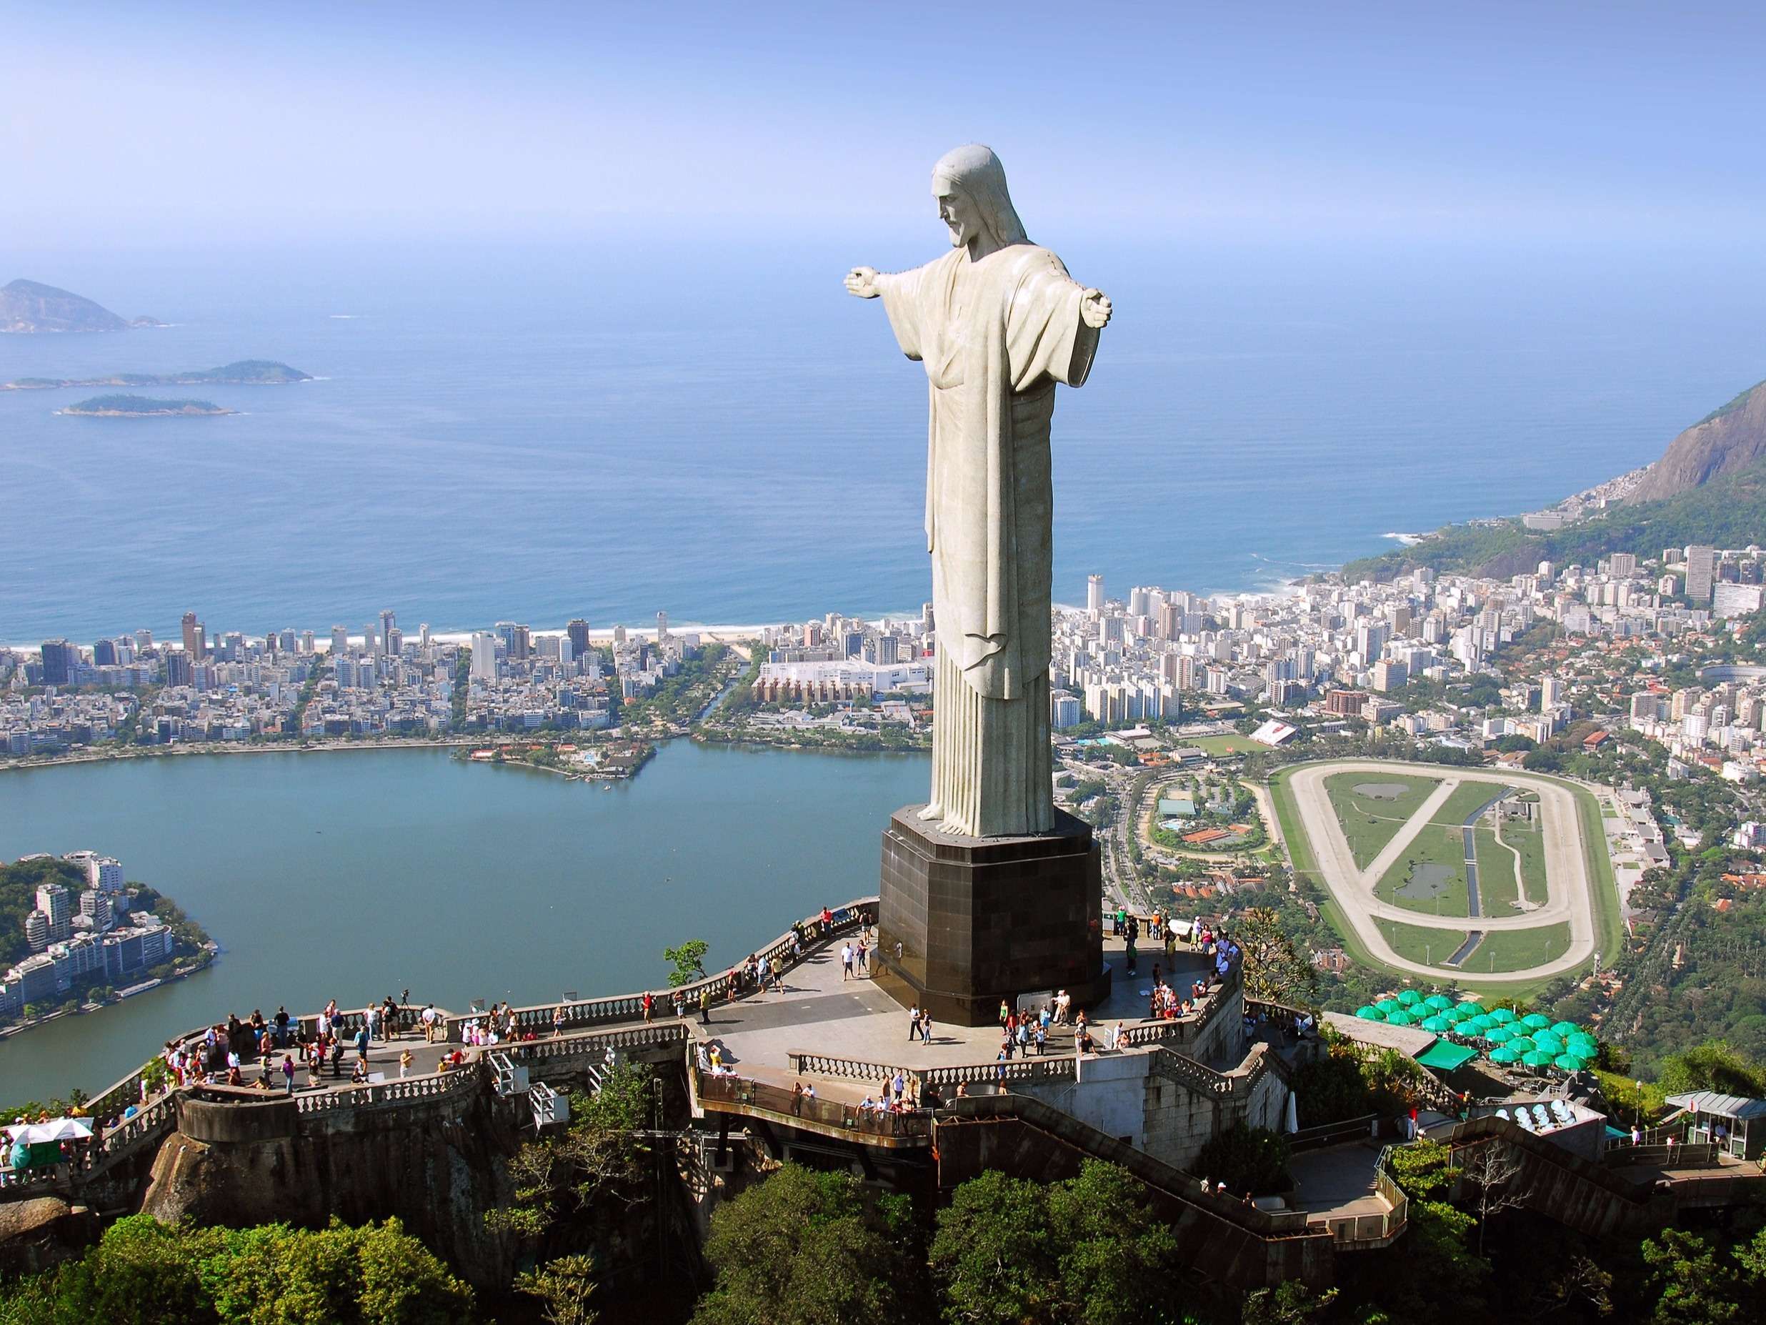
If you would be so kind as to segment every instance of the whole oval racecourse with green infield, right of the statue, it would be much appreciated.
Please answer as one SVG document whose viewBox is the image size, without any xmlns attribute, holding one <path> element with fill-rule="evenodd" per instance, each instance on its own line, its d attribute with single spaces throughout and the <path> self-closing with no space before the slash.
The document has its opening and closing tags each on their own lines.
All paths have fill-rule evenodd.
<svg viewBox="0 0 1766 1325">
<path fill-rule="evenodd" d="M 1294 869 L 1365 961 L 1478 986 L 1540 984 L 1619 942 L 1593 793 L 1508 768 L 1330 760 L 1272 779 Z M 1584 804 L 1586 802 L 1586 804 Z"/>
</svg>

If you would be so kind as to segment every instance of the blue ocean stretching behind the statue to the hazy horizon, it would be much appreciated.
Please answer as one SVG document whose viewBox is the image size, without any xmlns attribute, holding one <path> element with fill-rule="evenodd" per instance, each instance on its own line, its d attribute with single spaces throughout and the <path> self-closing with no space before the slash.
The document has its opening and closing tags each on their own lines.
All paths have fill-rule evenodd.
<svg viewBox="0 0 1766 1325">
<path fill-rule="evenodd" d="M 0 380 L 281 359 L 226 419 L 0 392 L 0 640 L 911 611 L 925 385 L 853 261 L 754 244 L 12 254 L 166 330 L 0 336 Z M 1054 422 L 1056 599 L 1266 588 L 1552 502 L 1766 376 L 1761 254 L 1194 251 L 1047 235 L 1109 292 Z"/>
</svg>

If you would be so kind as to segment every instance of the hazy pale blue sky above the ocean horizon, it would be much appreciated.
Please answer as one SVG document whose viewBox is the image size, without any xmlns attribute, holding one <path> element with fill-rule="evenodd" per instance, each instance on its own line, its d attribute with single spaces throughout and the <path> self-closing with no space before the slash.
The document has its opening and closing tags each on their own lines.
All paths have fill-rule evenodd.
<svg viewBox="0 0 1766 1325">
<path fill-rule="evenodd" d="M 1766 11 L 14 0 L 0 251 L 924 226 L 1750 244 Z M 0 263 L 5 267 L 7 263 Z"/>
</svg>

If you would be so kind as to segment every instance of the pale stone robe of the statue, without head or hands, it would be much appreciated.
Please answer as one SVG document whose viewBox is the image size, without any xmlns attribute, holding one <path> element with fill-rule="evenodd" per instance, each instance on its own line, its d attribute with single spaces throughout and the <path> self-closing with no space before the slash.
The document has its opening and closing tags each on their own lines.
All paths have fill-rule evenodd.
<svg viewBox="0 0 1766 1325">
<path fill-rule="evenodd" d="M 1086 380 L 1098 336 L 1083 288 L 1035 244 L 980 261 L 952 249 L 879 286 L 931 383 L 932 804 L 947 832 L 1049 832 L 1049 420 L 1054 383 Z"/>
</svg>

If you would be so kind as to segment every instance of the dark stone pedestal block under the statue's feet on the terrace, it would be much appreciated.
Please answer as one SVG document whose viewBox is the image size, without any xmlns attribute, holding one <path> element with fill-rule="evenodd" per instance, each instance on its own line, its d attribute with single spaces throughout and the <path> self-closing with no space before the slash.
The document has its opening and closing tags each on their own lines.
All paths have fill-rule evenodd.
<svg viewBox="0 0 1766 1325">
<path fill-rule="evenodd" d="M 998 1021 L 1000 1000 L 1019 995 L 1067 989 L 1077 1007 L 1102 1000 L 1109 970 L 1091 825 L 1056 809 L 1049 834 L 959 837 L 922 823 L 920 809 L 895 811 L 883 830 L 876 984 L 959 1026 Z"/>
</svg>

